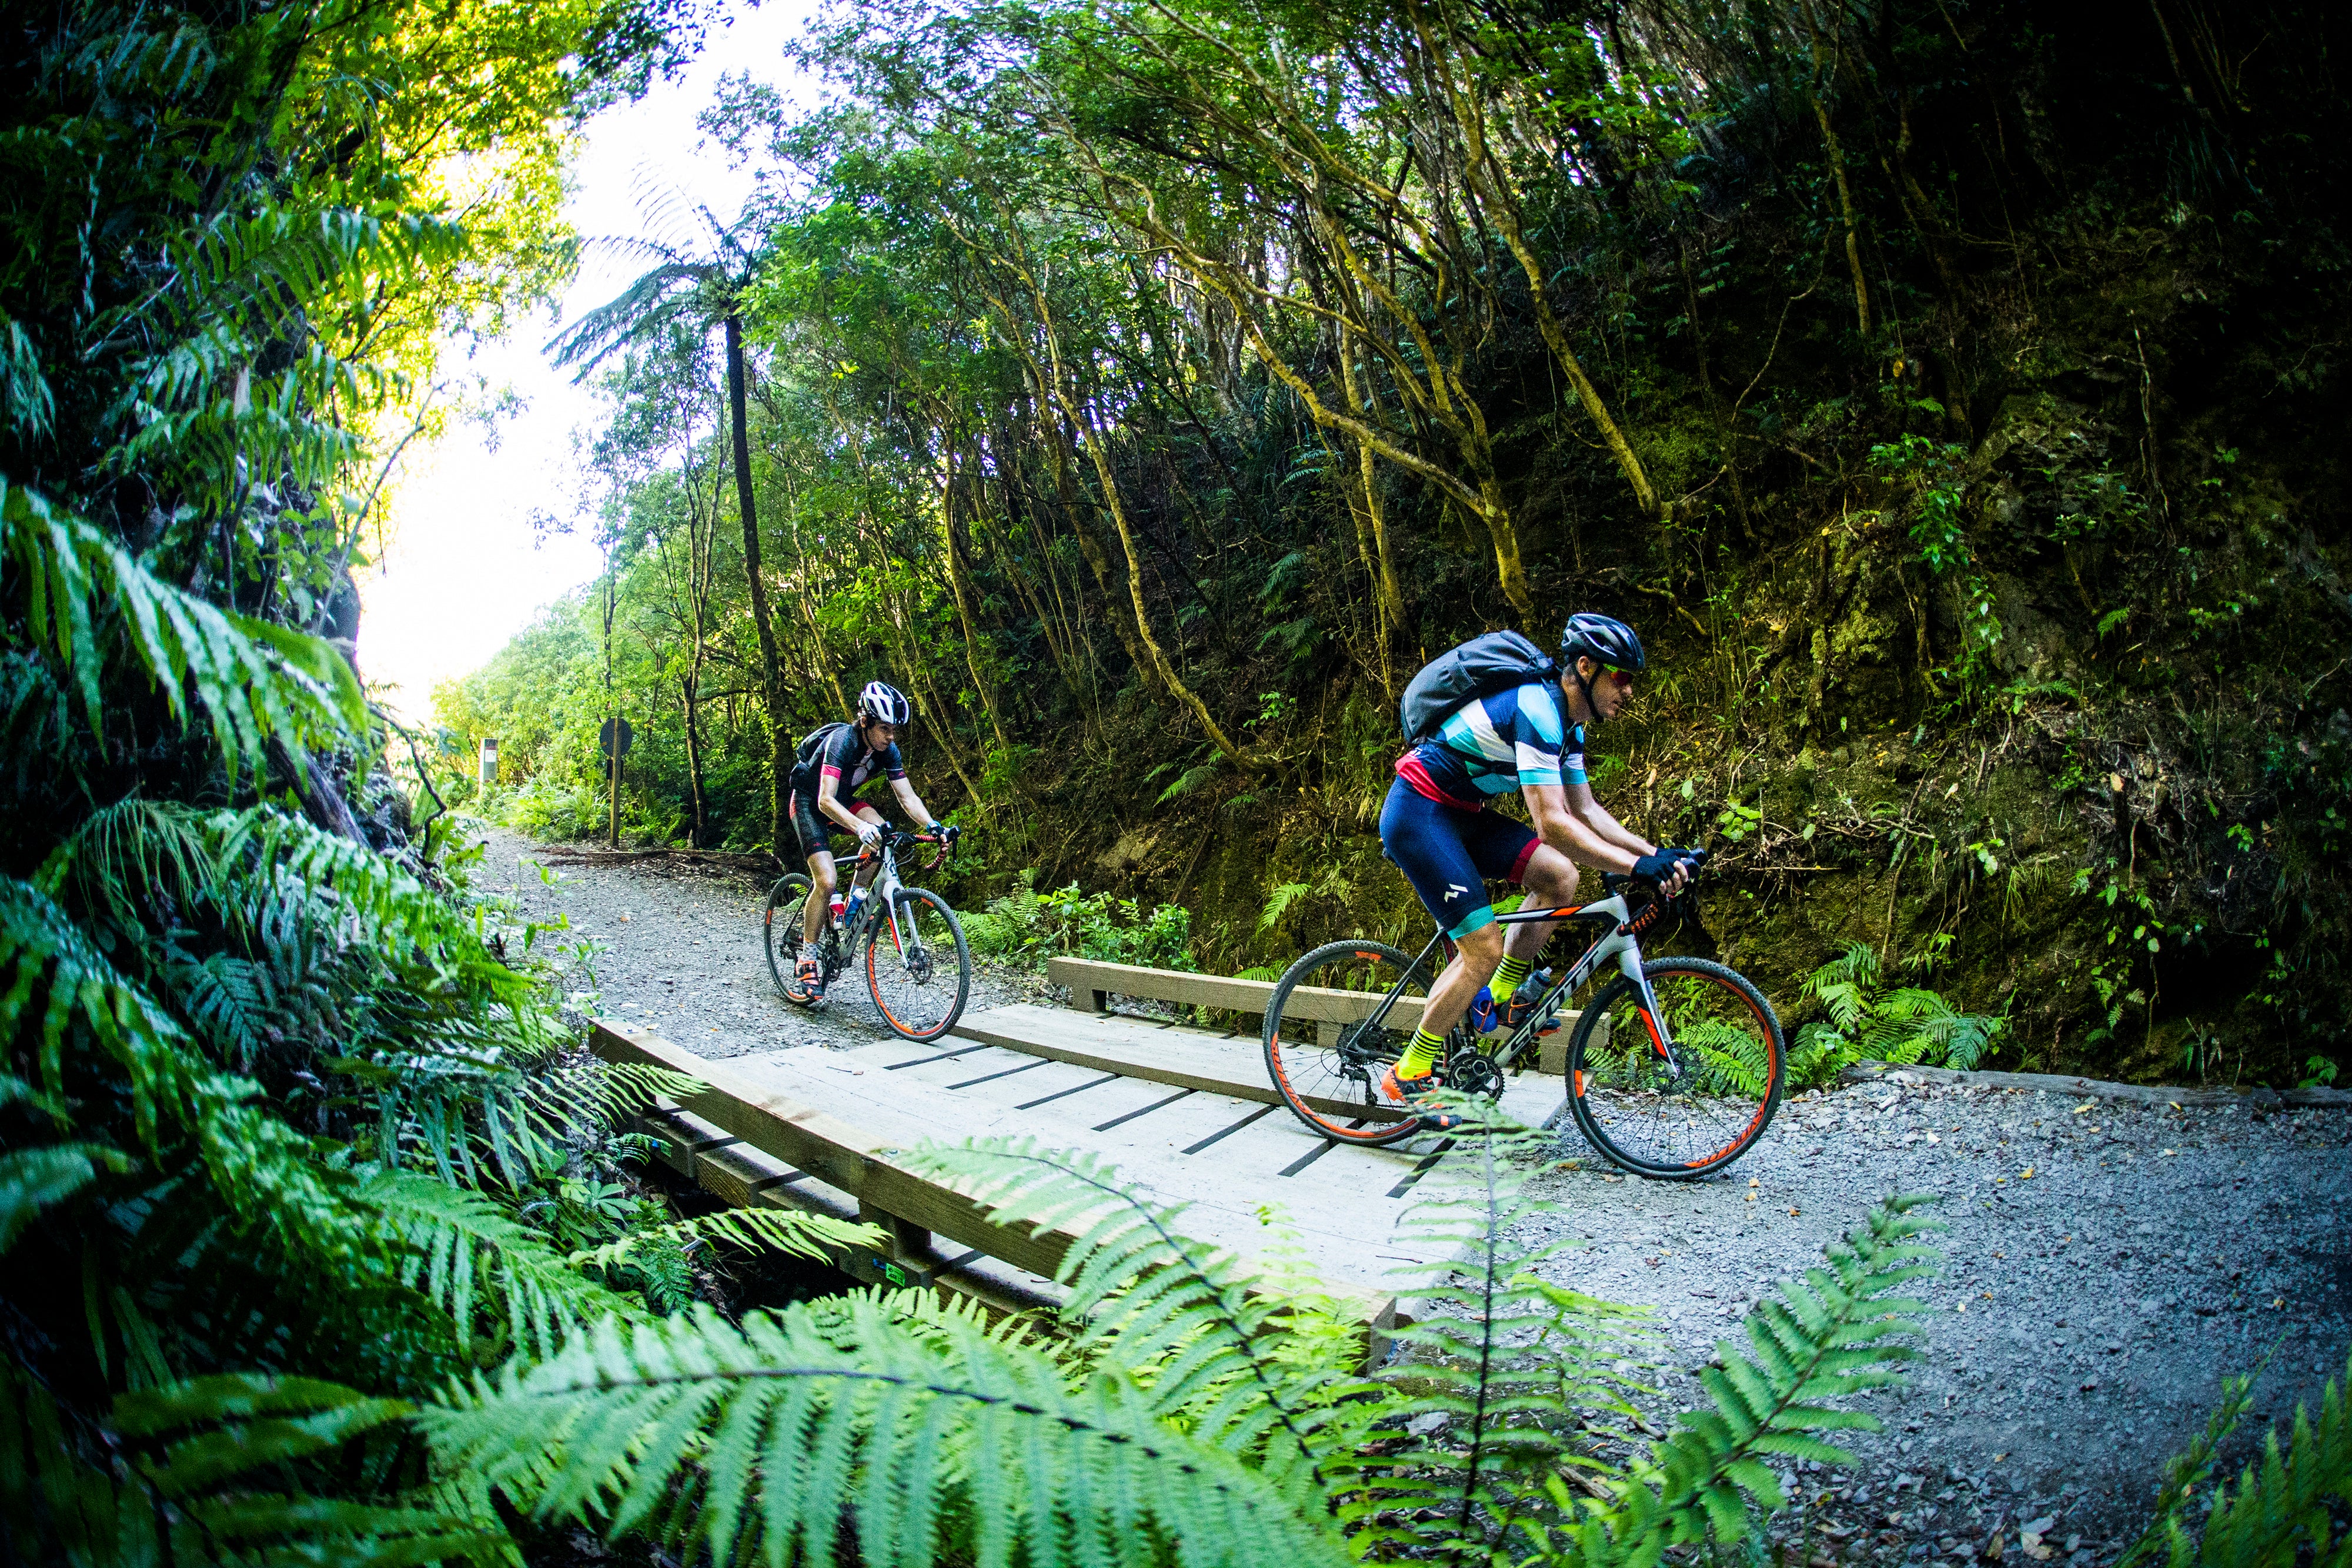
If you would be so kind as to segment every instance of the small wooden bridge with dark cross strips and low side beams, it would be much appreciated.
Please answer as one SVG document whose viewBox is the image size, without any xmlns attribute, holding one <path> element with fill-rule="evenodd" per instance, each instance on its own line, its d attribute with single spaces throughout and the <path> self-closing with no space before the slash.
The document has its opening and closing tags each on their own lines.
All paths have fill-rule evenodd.
<svg viewBox="0 0 2352 1568">
<path fill-rule="evenodd" d="M 1068 1009 L 988 1009 L 929 1046 L 875 1037 L 847 1051 L 703 1060 L 616 1020 L 597 1023 L 593 1046 L 604 1060 L 659 1063 L 710 1086 L 642 1121 L 661 1159 L 708 1192 L 882 1227 L 887 1246 L 835 1258 L 854 1279 L 957 1291 L 997 1309 L 1058 1305 L 1051 1274 L 1073 1234 L 990 1218 L 906 1161 L 927 1143 L 1028 1133 L 1103 1154 L 1164 1201 L 1190 1201 L 1185 1229 L 1244 1258 L 1270 1241 L 1258 1208 L 1279 1206 L 1310 1267 L 1374 1338 L 1409 1321 L 1409 1302 L 1399 1309 L 1381 1276 L 1437 1260 L 1414 1251 L 1397 1220 L 1449 1182 L 1444 1138 L 1364 1150 L 1312 1135 L 1265 1074 L 1258 1027 L 1272 985 L 1263 980 L 1089 959 L 1054 959 L 1049 976 L 1068 987 Z M 1112 999 L 1181 1004 L 1232 1027 L 1112 1011 Z M 1362 1006 L 1329 992 L 1315 1016 L 1345 1023 Z M 1548 1037 L 1541 1070 L 1510 1079 L 1503 1103 L 1522 1121 L 1559 1110 L 1566 1037 L 1566 1027 Z M 811 1086 L 826 1110 L 809 1105 Z"/>
</svg>

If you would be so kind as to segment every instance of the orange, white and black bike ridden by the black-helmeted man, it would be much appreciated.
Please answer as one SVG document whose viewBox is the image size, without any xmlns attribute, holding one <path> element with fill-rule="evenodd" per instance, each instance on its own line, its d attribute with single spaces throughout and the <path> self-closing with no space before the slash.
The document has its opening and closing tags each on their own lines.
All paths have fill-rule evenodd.
<svg viewBox="0 0 2352 1568">
<path fill-rule="evenodd" d="M 1625 893 L 1637 886 L 1649 884 L 1602 875 L 1609 896 L 1595 903 L 1498 914 L 1503 926 L 1576 922 L 1595 940 L 1541 987 L 1536 1011 L 1510 1034 L 1479 1039 L 1468 1018 L 1456 1025 L 1442 1074 L 1456 1093 L 1501 1098 L 1503 1077 L 1524 1072 L 1536 1041 L 1557 1027 L 1555 1011 L 1613 961 L 1618 973 L 1569 1032 L 1569 1112 L 1609 1164 L 1686 1180 L 1729 1166 L 1771 1126 L 1788 1044 L 1771 1001 L 1738 971 L 1710 959 L 1642 957 L 1642 933 L 1675 900 L 1661 896 L 1632 910 Z M 1265 1006 L 1265 1067 L 1310 1133 L 1388 1145 L 1428 1131 L 1374 1086 L 1421 1027 L 1421 999 L 1449 961 L 1454 943 L 1439 931 L 1418 957 L 1341 940 L 1282 973 Z"/>
</svg>

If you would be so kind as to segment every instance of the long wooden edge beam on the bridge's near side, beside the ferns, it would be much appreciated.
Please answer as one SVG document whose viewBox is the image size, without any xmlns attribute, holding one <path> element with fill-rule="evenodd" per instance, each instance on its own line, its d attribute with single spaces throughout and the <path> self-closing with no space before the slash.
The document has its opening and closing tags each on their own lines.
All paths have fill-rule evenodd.
<svg viewBox="0 0 2352 1568">
<path fill-rule="evenodd" d="M 889 1213 L 938 1237 L 981 1248 L 1030 1274 L 1054 1276 L 1077 1234 L 1068 1227 L 1028 1229 L 997 1222 L 955 1187 L 906 1166 L 903 1145 L 887 1143 L 840 1117 L 760 1086 L 736 1060 L 703 1060 L 666 1039 L 597 1023 L 590 1048 L 614 1063 L 649 1063 L 708 1084 L 684 1107 L 724 1133 L 851 1194 L 866 1213 Z M 750 1058 L 760 1060 L 760 1058 Z M 898 1093 L 913 1095 L 917 1086 Z M 938 1091 L 934 1091 L 938 1093 Z M 969 1128 L 969 1121 L 964 1126 Z M 1381 1291 L 1334 1281 L 1331 1295 L 1352 1305 L 1367 1331 L 1395 1326 L 1397 1302 Z"/>
</svg>

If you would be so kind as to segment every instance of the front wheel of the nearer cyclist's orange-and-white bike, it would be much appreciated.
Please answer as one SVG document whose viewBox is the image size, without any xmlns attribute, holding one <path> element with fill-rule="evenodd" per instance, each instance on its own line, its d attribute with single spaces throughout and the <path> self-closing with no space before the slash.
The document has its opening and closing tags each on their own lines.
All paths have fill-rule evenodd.
<svg viewBox="0 0 2352 1568">
<path fill-rule="evenodd" d="M 1566 1053 L 1576 1128 L 1635 1175 L 1722 1171 L 1755 1147 L 1780 1107 L 1780 1020 L 1745 976 L 1708 959 L 1649 959 L 1642 976 L 1658 999 L 1656 1018 L 1642 990 L 1618 976 L 1576 1020 Z"/>
</svg>

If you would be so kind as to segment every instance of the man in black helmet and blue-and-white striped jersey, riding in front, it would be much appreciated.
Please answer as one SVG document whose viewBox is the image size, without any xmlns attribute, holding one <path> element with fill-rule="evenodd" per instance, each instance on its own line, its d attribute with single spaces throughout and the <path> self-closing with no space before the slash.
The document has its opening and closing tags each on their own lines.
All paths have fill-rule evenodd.
<svg viewBox="0 0 2352 1568">
<path fill-rule="evenodd" d="M 1585 783 L 1585 726 L 1618 715 L 1646 663 L 1642 639 L 1623 621 L 1569 616 L 1557 682 L 1470 698 L 1446 715 L 1432 741 L 1397 759 L 1397 780 L 1381 809 L 1381 849 L 1454 938 L 1456 957 L 1430 985 L 1421 1032 L 1381 1081 L 1383 1098 L 1411 1105 L 1430 1091 L 1446 1030 L 1463 1011 L 1489 1032 L 1517 1030 L 1536 1006 L 1534 994 L 1519 994 L 1519 983 L 1557 922 L 1512 926 L 1505 938 L 1486 903 L 1489 877 L 1555 905 L 1573 898 L 1576 865 L 1682 891 L 1684 860 L 1618 823 Z M 1486 804 L 1510 790 L 1526 797 L 1534 827 Z"/>
</svg>

